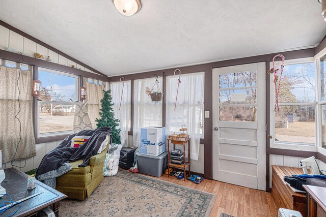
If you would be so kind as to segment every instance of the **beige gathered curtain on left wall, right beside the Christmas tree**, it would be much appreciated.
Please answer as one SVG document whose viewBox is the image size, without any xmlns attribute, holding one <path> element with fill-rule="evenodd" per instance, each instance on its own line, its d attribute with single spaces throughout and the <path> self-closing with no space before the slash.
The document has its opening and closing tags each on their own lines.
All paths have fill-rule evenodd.
<svg viewBox="0 0 326 217">
<path fill-rule="evenodd" d="M 88 116 L 92 122 L 93 129 L 96 129 L 97 122 L 95 122 L 95 119 L 100 117 L 99 112 L 101 109 L 101 99 L 104 96 L 105 82 L 85 78 L 84 86 L 87 91 L 85 104 L 88 110 Z"/>
</svg>

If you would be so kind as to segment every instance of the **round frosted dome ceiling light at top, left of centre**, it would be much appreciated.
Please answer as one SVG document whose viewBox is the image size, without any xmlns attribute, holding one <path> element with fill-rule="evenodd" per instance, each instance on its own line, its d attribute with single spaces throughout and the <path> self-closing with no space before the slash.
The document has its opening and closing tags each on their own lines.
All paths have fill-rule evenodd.
<svg viewBox="0 0 326 217">
<path fill-rule="evenodd" d="M 116 9 L 125 16 L 137 14 L 141 8 L 141 0 L 112 0 Z"/>
</svg>

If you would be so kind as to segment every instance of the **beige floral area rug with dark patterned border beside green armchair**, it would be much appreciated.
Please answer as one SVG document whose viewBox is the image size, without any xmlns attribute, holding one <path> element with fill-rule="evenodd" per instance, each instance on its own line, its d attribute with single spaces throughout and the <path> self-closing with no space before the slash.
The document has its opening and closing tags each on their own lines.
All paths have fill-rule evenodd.
<svg viewBox="0 0 326 217">
<path fill-rule="evenodd" d="M 186 180 L 188 181 L 188 180 Z M 119 170 L 84 202 L 63 200 L 60 216 L 209 216 L 215 195 Z"/>
</svg>

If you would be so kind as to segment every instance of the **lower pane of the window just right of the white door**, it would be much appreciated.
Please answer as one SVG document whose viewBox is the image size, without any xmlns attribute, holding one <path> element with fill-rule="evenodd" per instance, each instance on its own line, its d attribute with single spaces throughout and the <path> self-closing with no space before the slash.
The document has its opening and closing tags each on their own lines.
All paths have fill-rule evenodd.
<svg viewBox="0 0 326 217">
<path fill-rule="evenodd" d="M 275 142 L 315 143 L 315 106 L 280 106 L 275 113 Z"/>
</svg>

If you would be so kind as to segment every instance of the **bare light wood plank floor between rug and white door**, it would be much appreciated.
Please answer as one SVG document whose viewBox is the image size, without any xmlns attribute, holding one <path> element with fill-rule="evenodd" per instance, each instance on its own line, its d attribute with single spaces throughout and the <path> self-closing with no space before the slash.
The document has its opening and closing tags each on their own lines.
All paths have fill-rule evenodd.
<svg viewBox="0 0 326 217">
<path fill-rule="evenodd" d="M 158 179 L 215 194 L 216 199 L 210 217 L 220 216 L 222 212 L 237 217 L 278 216 L 275 201 L 268 192 L 206 179 L 200 184 L 195 184 L 189 180 L 179 180 L 174 176 L 168 177 L 166 174 Z"/>
</svg>

